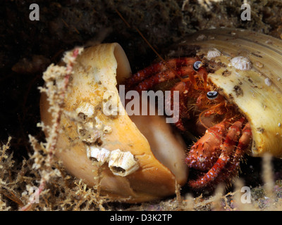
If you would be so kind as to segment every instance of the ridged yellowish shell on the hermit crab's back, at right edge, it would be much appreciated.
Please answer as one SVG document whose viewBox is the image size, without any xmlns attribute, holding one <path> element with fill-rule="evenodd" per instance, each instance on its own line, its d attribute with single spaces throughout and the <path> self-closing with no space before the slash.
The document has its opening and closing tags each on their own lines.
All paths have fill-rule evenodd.
<svg viewBox="0 0 282 225">
<path fill-rule="evenodd" d="M 282 41 L 240 29 L 204 30 L 185 39 L 207 63 L 212 81 L 238 105 L 252 128 L 253 156 L 282 158 Z"/>
</svg>

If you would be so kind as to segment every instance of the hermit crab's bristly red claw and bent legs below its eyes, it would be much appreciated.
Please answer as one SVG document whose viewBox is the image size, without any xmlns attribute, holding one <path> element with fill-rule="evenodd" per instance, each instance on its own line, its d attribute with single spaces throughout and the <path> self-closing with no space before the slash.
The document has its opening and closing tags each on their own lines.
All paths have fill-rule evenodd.
<svg viewBox="0 0 282 225">
<path fill-rule="evenodd" d="M 208 172 L 195 181 L 189 181 L 191 188 L 200 189 L 214 187 L 220 182 L 228 183 L 228 181 L 231 181 L 238 174 L 240 160 L 252 141 L 252 132 L 249 123 L 245 124 L 244 129 L 241 131 L 244 122 L 245 118 L 242 117 L 231 126 L 228 122 L 223 121 L 212 127 L 212 129 L 209 129 L 202 139 L 194 145 L 196 148 L 198 146 L 202 147 L 202 149 L 197 149 L 197 160 L 191 160 L 192 156 L 196 154 L 193 149 L 194 146 L 192 147 L 191 153 L 186 158 L 186 162 L 190 163 L 190 167 L 201 170 L 208 169 Z M 218 127 L 226 129 L 226 132 L 219 131 Z M 218 134 L 216 134 L 216 130 L 219 131 Z M 213 135 L 214 139 L 210 139 Z M 217 140 L 219 143 L 213 143 L 211 140 Z M 221 152 L 216 162 L 214 162 L 214 155 L 211 155 L 215 152 L 214 148 L 216 146 L 214 144 L 218 147 L 217 150 Z M 208 146 L 208 148 L 204 146 Z M 202 152 L 202 155 L 199 155 L 198 152 Z M 197 165 L 201 165 L 202 167 L 197 167 Z"/>
</svg>

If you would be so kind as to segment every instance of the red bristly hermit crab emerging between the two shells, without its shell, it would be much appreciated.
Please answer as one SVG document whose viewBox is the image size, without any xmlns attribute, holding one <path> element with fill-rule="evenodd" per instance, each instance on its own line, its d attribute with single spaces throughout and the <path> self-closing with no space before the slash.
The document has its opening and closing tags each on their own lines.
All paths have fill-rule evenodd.
<svg viewBox="0 0 282 225">
<path fill-rule="evenodd" d="M 199 118 L 197 123 L 200 123 L 198 126 L 206 128 L 204 136 L 192 146 L 185 160 L 189 167 L 209 170 L 201 179 L 189 182 L 192 188 L 203 188 L 219 181 L 226 181 L 238 172 L 240 159 L 252 139 L 250 124 L 245 123 L 245 117 L 234 107 L 234 103 L 226 101 L 219 94 L 219 90 L 207 81 L 207 75 L 207 70 L 202 67 L 202 62 L 198 58 L 173 58 L 137 72 L 125 83 L 128 89 L 132 89 L 135 82 L 139 82 L 133 89 L 141 94 L 142 91 L 160 82 L 180 77 L 180 81 L 171 88 L 171 93 L 180 92 L 178 98 L 180 118 L 175 123 L 176 127 L 185 131 L 186 126 L 182 118 L 189 120 L 191 117 L 197 117 Z M 169 101 L 175 101 L 173 94 Z M 166 105 L 174 104 L 166 102 Z M 209 123 L 217 120 L 220 122 L 207 127 L 202 117 L 211 120 Z"/>
</svg>

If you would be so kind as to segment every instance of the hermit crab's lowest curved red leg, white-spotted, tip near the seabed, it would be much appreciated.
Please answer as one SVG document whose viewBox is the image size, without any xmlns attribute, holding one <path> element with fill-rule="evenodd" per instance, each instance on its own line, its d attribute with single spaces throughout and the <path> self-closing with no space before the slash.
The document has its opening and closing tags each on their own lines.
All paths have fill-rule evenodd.
<svg viewBox="0 0 282 225">
<path fill-rule="evenodd" d="M 212 169 L 209 169 L 209 172 L 204 174 L 202 178 L 189 182 L 189 185 L 192 188 L 199 189 L 213 184 L 221 174 L 221 171 L 226 168 L 226 164 L 230 160 L 233 150 L 235 149 L 244 120 L 245 118 L 241 118 L 240 120 L 234 122 L 234 124 L 228 129 L 226 139 L 221 148 L 222 151 L 219 159 L 216 161 Z"/>
</svg>

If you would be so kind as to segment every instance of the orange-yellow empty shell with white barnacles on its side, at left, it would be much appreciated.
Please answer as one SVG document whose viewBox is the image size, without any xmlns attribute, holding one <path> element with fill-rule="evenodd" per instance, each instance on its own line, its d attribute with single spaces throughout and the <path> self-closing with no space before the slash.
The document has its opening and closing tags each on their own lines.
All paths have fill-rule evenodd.
<svg viewBox="0 0 282 225">
<path fill-rule="evenodd" d="M 88 186 L 99 183 L 102 194 L 137 203 L 175 193 L 188 169 L 185 145 L 163 117 L 128 117 L 116 85 L 129 76 L 128 59 L 116 43 L 90 47 L 78 56 L 56 156 Z M 118 106 L 118 115 L 104 113 L 109 102 Z M 44 124 L 51 125 L 44 94 L 40 109 Z"/>
</svg>

